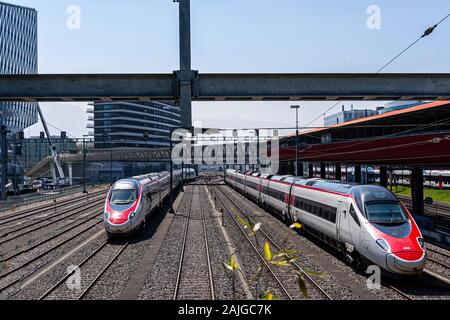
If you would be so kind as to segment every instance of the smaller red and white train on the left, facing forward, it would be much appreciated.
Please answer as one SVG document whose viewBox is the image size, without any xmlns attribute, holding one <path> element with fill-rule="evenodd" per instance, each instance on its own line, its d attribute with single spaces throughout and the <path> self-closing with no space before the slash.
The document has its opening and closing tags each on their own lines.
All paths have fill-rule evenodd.
<svg viewBox="0 0 450 320">
<path fill-rule="evenodd" d="M 184 169 L 184 179 L 192 180 L 194 169 Z M 181 170 L 173 173 L 173 188 L 182 182 Z M 170 193 L 168 171 L 150 173 L 115 182 L 105 201 L 104 225 L 109 235 L 130 234 L 142 227 Z"/>
</svg>

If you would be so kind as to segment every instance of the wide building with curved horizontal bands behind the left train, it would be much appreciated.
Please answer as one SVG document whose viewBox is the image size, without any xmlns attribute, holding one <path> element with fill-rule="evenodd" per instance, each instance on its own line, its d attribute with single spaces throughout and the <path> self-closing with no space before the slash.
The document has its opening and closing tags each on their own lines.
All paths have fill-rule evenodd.
<svg viewBox="0 0 450 320">
<path fill-rule="evenodd" d="M 178 108 L 161 102 L 96 102 L 88 108 L 95 148 L 168 148 L 178 128 Z"/>
</svg>

